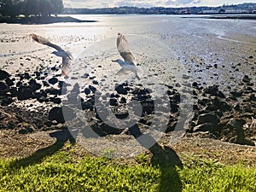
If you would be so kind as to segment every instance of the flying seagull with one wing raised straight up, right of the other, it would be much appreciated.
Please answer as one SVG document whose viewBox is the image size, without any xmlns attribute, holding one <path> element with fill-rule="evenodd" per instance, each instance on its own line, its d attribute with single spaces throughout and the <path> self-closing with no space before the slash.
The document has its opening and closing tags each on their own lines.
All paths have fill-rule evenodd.
<svg viewBox="0 0 256 192">
<path fill-rule="evenodd" d="M 124 59 L 124 61 L 120 59 L 112 60 L 113 62 L 119 63 L 120 67 L 122 67 L 117 74 L 124 74 L 127 73 L 127 71 L 131 71 L 135 73 L 137 79 L 140 80 L 138 73 L 141 73 L 141 69 L 136 66 L 135 57 L 131 54 L 128 41 L 120 32 L 118 33 L 116 44 L 119 54 Z"/>
</svg>

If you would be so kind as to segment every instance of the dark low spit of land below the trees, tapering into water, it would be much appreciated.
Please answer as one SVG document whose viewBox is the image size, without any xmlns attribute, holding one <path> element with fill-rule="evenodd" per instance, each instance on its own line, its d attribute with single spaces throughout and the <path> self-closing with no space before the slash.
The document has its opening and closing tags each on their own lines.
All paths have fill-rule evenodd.
<svg viewBox="0 0 256 192">
<path fill-rule="evenodd" d="M 31 16 L 31 17 L 7 17 L 0 16 L 0 23 L 9 24 L 24 24 L 24 25 L 39 25 L 39 24 L 50 24 L 60 22 L 96 22 L 96 20 L 79 20 L 70 16 Z"/>
</svg>

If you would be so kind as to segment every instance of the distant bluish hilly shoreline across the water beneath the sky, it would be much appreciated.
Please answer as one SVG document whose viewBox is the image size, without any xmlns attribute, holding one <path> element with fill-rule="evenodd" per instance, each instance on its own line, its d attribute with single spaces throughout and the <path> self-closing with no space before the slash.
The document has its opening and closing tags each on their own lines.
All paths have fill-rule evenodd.
<svg viewBox="0 0 256 192">
<path fill-rule="evenodd" d="M 220 7 L 186 7 L 186 8 L 138 8 L 115 7 L 102 9 L 73 9 L 65 8 L 62 14 L 90 15 L 90 14 L 256 14 L 256 3 L 242 3 L 236 5 L 223 5 Z"/>
</svg>

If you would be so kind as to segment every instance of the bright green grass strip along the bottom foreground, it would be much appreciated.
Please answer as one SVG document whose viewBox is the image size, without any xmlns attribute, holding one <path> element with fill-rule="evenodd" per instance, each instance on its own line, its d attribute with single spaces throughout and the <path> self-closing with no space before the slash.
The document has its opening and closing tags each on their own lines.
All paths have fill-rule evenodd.
<svg viewBox="0 0 256 192">
<path fill-rule="evenodd" d="M 146 160 L 138 156 L 135 166 L 89 156 L 74 160 L 68 151 L 34 164 L 3 159 L 0 191 L 256 191 L 256 167 L 189 159 L 183 168 L 163 168 Z"/>
</svg>

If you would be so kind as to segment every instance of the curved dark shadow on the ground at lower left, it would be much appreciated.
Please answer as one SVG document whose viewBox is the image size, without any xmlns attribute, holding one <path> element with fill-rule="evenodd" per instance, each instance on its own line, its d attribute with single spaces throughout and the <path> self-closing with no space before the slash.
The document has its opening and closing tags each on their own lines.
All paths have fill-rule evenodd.
<svg viewBox="0 0 256 192">
<path fill-rule="evenodd" d="M 13 161 L 10 167 L 19 169 L 20 167 L 40 164 L 45 157 L 55 154 L 57 151 L 59 151 L 67 141 L 70 141 L 70 143 L 75 143 L 74 138 L 72 137 L 72 135 L 67 129 L 49 133 L 49 136 L 56 138 L 56 141 L 54 144 L 50 145 L 47 148 L 41 148 L 38 151 L 36 151 L 34 154 L 31 154 L 26 158 Z"/>
</svg>

